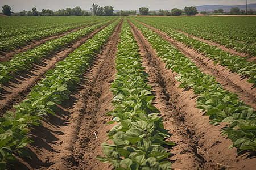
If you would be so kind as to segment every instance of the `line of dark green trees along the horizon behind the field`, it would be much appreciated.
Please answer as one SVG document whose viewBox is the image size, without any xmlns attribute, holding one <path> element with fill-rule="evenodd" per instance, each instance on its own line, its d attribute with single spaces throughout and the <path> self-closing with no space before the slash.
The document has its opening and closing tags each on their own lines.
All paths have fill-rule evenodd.
<svg viewBox="0 0 256 170">
<path fill-rule="evenodd" d="M 32 8 L 32 11 L 20 11 L 20 12 L 11 12 L 11 7 L 9 5 L 4 5 L 2 7 L 3 14 L 7 16 L 129 16 L 129 15 L 150 15 L 150 16 L 179 16 L 179 15 L 196 15 L 197 9 L 196 7 L 190 6 L 185 8 L 183 10 L 178 8 L 172 8 L 171 11 L 168 10 L 159 10 L 159 11 L 150 11 L 147 7 L 141 7 L 139 8 L 139 14 L 137 14 L 136 10 L 131 11 L 116 11 L 114 12 L 114 8 L 112 6 L 98 6 L 97 4 L 92 5 L 92 8 L 90 8 L 91 12 L 82 10 L 81 7 L 77 6 L 75 8 L 66 8 L 52 11 L 50 9 L 43 9 L 41 12 L 39 12 L 35 7 Z M 201 11 L 201 14 L 207 14 L 206 11 Z M 208 12 L 209 14 L 209 12 Z M 212 12 L 210 12 L 212 14 Z M 245 10 L 241 10 L 238 7 L 234 7 L 230 10 L 230 12 L 224 12 L 223 9 L 214 10 L 213 14 L 246 14 Z M 249 10 L 247 14 L 256 14 L 255 11 Z"/>
</svg>

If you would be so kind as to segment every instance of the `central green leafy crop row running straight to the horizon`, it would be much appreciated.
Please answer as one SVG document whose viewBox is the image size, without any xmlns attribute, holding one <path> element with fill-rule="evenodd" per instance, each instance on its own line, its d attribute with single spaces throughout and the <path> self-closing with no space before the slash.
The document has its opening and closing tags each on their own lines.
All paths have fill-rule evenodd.
<svg viewBox="0 0 256 170">
<path fill-rule="evenodd" d="M 117 78 L 112 82 L 115 109 L 109 122 L 117 122 L 108 133 L 114 145 L 102 143 L 106 157 L 98 156 L 103 163 L 112 163 L 115 169 L 171 169 L 164 161 L 170 153 L 161 146 L 175 145 L 164 142 L 169 138 L 163 128 L 162 117 L 151 103 L 151 87 L 146 84 L 148 74 L 141 65 L 141 56 L 127 20 L 123 22 L 115 63 Z"/>
</svg>

